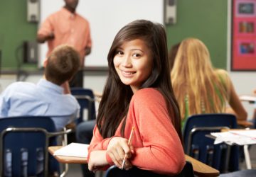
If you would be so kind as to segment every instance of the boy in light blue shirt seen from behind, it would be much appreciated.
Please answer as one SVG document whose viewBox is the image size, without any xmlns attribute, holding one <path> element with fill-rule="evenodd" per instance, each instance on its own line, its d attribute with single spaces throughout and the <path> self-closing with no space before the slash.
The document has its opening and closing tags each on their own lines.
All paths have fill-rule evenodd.
<svg viewBox="0 0 256 177">
<path fill-rule="evenodd" d="M 37 84 L 15 82 L 1 93 L 0 118 L 52 116 L 56 129 L 62 129 L 79 115 L 80 105 L 68 85 L 79 67 L 80 57 L 73 47 L 56 47 L 45 62 L 43 79 Z"/>
</svg>

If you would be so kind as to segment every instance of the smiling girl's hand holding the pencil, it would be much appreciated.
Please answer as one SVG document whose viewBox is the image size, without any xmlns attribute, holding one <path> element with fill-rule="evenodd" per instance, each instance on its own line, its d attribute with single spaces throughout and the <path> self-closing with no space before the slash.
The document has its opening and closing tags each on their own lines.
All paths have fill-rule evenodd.
<svg viewBox="0 0 256 177">
<path fill-rule="evenodd" d="M 114 164 L 121 169 L 122 161 L 126 155 L 124 169 L 132 168 L 132 164 L 127 160 L 131 158 L 134 149 L 128 144 L 128 139 L 123 137 L 113 137 L 107 147 L 107 154 L 110 156 Z"/>
</svg>

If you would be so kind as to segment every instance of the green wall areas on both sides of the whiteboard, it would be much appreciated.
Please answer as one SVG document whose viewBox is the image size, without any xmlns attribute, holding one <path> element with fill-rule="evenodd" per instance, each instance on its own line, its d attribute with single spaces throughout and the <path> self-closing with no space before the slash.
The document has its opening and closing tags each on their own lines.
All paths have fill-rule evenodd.
<svg viewBox="0 0 256 177">
<path fill-rule="evenodd" d="M 26 0 L 0 1 L 0 49 L 4 70 L 16 70 L 16 49 L 36 40 L 36 23 L 26 21 Z M 178 0 L 177 23 L 166 26 L 169 47 L 187 37 L 206 42 L 215 67 L 226 68 L 226 0 Z M 21 57 L 21 51 L 18 55 Z M 35 64 L 23 67 L 35 67 Z"/>
</svg>

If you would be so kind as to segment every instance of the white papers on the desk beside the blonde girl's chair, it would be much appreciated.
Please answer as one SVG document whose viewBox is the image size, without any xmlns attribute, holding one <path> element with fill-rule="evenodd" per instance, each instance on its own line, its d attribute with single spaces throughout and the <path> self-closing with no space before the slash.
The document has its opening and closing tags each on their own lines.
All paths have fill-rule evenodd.
<svg viewBox="0 0 256 177">
<path fill-rule="evenodd" d="M 226 144 L 256 144 L 256 130 L 238 130 L 229 132 L 210 133 L 215 138 L 214 144 L 225 142 Z"/>
</svg>

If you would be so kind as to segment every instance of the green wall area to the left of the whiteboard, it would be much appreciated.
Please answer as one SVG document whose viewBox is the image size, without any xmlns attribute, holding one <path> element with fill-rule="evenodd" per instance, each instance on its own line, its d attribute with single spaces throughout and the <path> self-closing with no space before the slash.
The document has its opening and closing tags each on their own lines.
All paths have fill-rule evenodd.
<svg viewBox="0 0 256 177">
<path fill-rule="evenodd" d="M 22 59 L 21 47 L 24 40 L 35 40 L 37 23 L 28 23 L 26 20 L 26 0 L 0 1 L 0 50 L 1 67 L 5 70 L 15 70 L 17 55 Z M 24 65 L 27 68 L 36 68 L 36 64 Z"/>
</svg>

